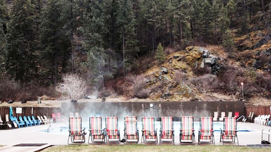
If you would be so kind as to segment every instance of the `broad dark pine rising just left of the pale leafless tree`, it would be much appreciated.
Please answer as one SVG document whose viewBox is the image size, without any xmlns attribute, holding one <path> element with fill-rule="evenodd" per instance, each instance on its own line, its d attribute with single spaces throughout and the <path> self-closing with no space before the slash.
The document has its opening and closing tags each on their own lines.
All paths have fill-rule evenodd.
<svg viewBox="0 0 271 152">
<path fill-rule="evenodd" d="M 65 22 L 61 20 L 60 3 L 58 0 L 48 0 L 47 2 L 40 25 L 40 48 L 42 50 L 40 59 L 45 65 L 43 73 L 51 73 L 51 84 L 56 86 L 59 77 L 58 69 L 61 67 L 61 72 L 65 70 L 66 59 L 70 55 L 68 48 L 71 44 L 65 30 L 63 30 Z"/>
</svg>

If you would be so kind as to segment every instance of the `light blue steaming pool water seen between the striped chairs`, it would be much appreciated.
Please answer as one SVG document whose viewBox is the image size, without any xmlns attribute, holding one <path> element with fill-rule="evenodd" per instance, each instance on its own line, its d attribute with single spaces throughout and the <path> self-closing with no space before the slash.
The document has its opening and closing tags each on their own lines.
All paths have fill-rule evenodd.
<svg viewBox="0 0 271 152">
<path fill-rule="evenodd" d="M 82 128 L 85 128 L 85 132 L 89 133 L 89 123 L 88 122 L 83 122 L 82 123 Z M 173 127 L 176 133 L 179 134 L 179 130 L 180 130 L 180 122 L 173 122 Z M 105 128 L 105 122 L 103 122 L 102 127 Z M 120 134 L 124 133 L 124 122 L 120 122 L 118 123 L 118 127 L 119 127 L 119 131 Z M 137 122 L 137 128 L 138 131 L 141 132 L 142 130 L 142 122 Z M 160 122 L 155 122 L 155 128 L 157 129 L 157 131 L 160 130 Z M 195 131 L 198 131 L 200 129 L 200 122 L 194 122 L 194 129 Z M 223 129 L 223 122 L 213 122 L 213 129 L 214 131 L 221 131 L 221 129 Z M 58 124 L 53 124 L 52 127 L 50 127 L 50 129 L 44 129 L 44 130 L 39 130 L 39 132 L 50 132 L 50 133 L 55 133 L 55 134 L 68 134 L 68 130 L 69 127 L 68 125 L 66 126 L 61 126 L 59 127 Z M 238 131 L 249 131 L 245 128 L 241 128 L 238 127 L 237 125 L 237 130 Z"/>
</svg>

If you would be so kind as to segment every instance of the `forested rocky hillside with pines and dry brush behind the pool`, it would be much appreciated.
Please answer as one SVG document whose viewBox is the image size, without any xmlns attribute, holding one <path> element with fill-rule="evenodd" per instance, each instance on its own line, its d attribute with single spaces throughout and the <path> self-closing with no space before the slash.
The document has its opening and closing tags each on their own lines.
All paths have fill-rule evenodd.
<svg viewBox="0 0 271 152">
<path fill-rule="evenodd" d="M 271 0 L 0 0 L 0 15 L 1 101 L 59 99 L 76 74 L 100 98 L 238 101 L 243 82 L 271 105 Z"/>
</svg>

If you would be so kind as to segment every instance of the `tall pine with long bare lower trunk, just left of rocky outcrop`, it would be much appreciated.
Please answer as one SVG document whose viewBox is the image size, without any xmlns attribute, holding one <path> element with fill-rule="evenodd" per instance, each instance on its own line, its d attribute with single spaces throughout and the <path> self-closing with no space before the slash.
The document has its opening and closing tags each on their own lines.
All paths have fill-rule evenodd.
<svg viewBox="0 0 271 152">
<path fill-rule="evenodd" d="M 117 25 L 123 52 L 123 75 L 126 76 L 139 51 L 136 40 L 136 20 L 133 5 L 129 0 L 118 0 Z"/>
</svg>

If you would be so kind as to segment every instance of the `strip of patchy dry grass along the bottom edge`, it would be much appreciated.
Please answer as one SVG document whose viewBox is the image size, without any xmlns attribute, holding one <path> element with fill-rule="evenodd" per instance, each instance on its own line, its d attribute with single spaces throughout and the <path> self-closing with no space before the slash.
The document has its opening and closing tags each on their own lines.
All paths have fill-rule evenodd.
<svg viewBox="0 0 271 152">
<path fill-rule="evenodd" d="M 173 146 L 173 145 L 72 145 L 53 146 L 42 152 L 270 152 L 271 148 L 245 146 Z"/>
</svg>

